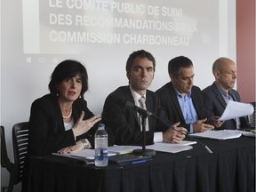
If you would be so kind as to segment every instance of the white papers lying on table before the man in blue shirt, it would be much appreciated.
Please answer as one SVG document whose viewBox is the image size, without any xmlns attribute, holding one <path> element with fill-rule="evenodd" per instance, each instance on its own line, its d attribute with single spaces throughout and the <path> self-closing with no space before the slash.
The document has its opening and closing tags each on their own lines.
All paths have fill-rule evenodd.
<svg viewBox="0 0 256 192">
<path fill-rule="evenodd" d="M 220 131 L 206 131 L 206 132 L 198 132 L 189 134 L 192 137 L 197 138 L 207 138 L 207 139 L 214 139 L 214 140 L 228 140 L 228 139 L 235 139 L 239 138 L 242 135 L 240 131 L 229 131 L 229 130 L 220 130 Z"/>
</svg>

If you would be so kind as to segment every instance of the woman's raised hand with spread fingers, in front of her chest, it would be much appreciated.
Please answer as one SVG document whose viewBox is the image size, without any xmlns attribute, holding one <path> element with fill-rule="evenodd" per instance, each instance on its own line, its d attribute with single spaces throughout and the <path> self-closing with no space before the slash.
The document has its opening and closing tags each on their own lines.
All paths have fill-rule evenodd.
<svg viewBox="0 0 256 192">
<path fill-rule="evenodd" d="M 79 136 L 84 134 L 84 132 L 88 132 L 94 124 L 101 120 L 100 115 L 92 116 L 89 119 L 83 120 L 84 118 L 84 111 L 82 111 L 81 116 L 77 120 L 76 124 L 72 128 L 74 136 Z"/>
</svg>

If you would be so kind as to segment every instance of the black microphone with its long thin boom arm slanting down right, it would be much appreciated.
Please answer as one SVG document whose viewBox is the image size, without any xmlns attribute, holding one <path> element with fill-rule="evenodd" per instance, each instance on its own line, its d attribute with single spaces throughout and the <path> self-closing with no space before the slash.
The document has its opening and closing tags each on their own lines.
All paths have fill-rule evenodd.
<svg viewBox="0 0 256 192">
<path fill-rule="evenodd" d="M 121 99 L 117 99 L 117 103 L 122 107 L 122 108 L 131 108 L 135 111 L 137 111 L 140 116 L 154 116 L 156 117 L 158 120 L 160 120 L 161 122 L 163 122 L 164 124 L 170 126 L 172 128 L 172 130 L 176 131 L 176 132 L 180 132 L 179 130 L 175 129 L 172 127 L 171 124 L 167 124 L 163 119 L 159 118 L 158 116 L 156 116 L 155 114 L 149 112 L 148 110 L 145 110 L 144 108 L 140 108 L 138 106 L 135 106 L 132 102 L 128 101 L 128 100 L 121 100 Z M 204 145 L 202 142 L 200 142 L 199 140 L 196 140 L 194 137 L 191 137 L 190 135 L 188 135 L 187 132 L 180 132 L 181 134 L 186 135 L 188 138 L 195 140 L 198 144 L 202 145 L 208 153 L 212 153 L 212 150 Z"/>
</svg>

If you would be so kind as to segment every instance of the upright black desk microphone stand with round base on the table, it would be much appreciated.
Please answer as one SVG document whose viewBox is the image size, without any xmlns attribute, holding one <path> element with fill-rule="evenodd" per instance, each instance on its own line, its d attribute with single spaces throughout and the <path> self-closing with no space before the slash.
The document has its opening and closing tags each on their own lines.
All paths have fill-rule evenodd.
<svg viewBox="0 0 256 192">
<path fill-rule="evenodd" d="M 139 156 L 156 156 L 155 150 L 146 148 L 146 124 L 147 124 L 146 119 L 148 117 L 148 114 L 144 112 L 139 112 L 139 113 L 141 116 L 143 144 L 142 144 L 142 149 L 134 149 L 132 153 Z"/>
</svg>

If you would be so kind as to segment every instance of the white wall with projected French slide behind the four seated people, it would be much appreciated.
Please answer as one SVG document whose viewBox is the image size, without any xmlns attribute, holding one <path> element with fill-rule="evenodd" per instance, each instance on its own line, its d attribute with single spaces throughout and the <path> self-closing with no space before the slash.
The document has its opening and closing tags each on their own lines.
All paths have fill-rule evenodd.
<svg viewBox="0 0 256 192">
<path fill-rule="evenodd" d="M 195 84 L 202 89 L 212 84 L 212 62 L 220 56 L 236 60 L 236 4 L 233 1 L 220 2 L 215 0 L 185 0 L 146 1 L 131 0 L 127 3 L 128 10 L 116 10 L 116 3 L 124 0 L 100 1 L 94 11 L 86 9 L 66 9 L 68 0 L 2 0 L 1 1 L 1 124 L 5 127 L 6 142 L 11 159 L 12 125 L 28 121 L 29 109 L 33 100 L 48 93 L 47 85 L 53 68 L 65 59 L 81 60 L 89 73 L 90 91 L 84 97 L 89 108 L 95 114 L 101 113 L 103 103 L 109 92 L 116 87 L 127 84 L 125 62 L 129 54 L 139 49 L 145 49 L 156 57 L 155 80 L 150 89 L 157 88 L 169 81 L 167 63 L 173 57 L 185 55 L 195 65 Z M 69 1 L 70 3 L 71 1 Z M 80 0 L 76 0 L 79 3 Z M 84 1 L 86 2 L 86 1 Z M 87 0 L 87 2 L 90 2 Z M 91 1 L 97 2 L 97 1 Z M 99 2 L 99 1 L 98 1 Z M 133 3 L 132 3 L 133 2 Z M 105 4 L 106 3 L 106 4 Z M 136 12 L 135 7 L 140 7 Z M 129 8 L 130 7 L 130 8 Z M 155 7 L 155 13 L 149 14 L 149 8 Z M 99 8 L 99 9 L 98 9 Z M 114 10 L 111 10 L 114 8 Z M 156 10 L 159 9 L 159 12 Z M 172 9 L 176 15 L 164 17 L 162 9 Z M 145 11 L 145 12 L 144 12 Z M 66 20 L 59 24 L 49 21 L 59 14 L 72 17 L 72 22 Z M 159 13 L 159 15 L 158 15 Z M 71 15 L 71 16 L 67 16 Z M 181 23 L 183 29 L 176 28 L 111 28 L 103 23 L 104 28 L 95 22 L 91 25 L 76 26 L 75 15 L 88 16 L 95 19 L 121 20 L 134 19 L 140 21 L 163 21 L 165 23 Z M 24 18 L 24 20 L 23 20 Z M 70 21 L 70 20 L 69 20 Z M 102 23 L 101 23 L 102 24 Z M 193 31 L 188 29 L 193 27 Z M 101 44 L 92 42 L 53 42 L 49 36 L 52 31 L 76 31 L 79 33 L 119 34 L 120 43 Z M 128 44 L 124 42 L 126 35 L 136 36 L 178 36 L 188 39 L 189 44 L 150 44 L 139 42 Z M 59 39 L 63 40 L 63 39 Z M 131 38 L 130 38 L 131 40 Z M 98 39 L 99 41 L 99 39 Z M 8 173 L 1 168 L 2 185 L 8 182 Z M 19 188 L 19 187 L 18 187 Z M 15 188 L 17 189 L 17 188 Z"/>
</svg>

